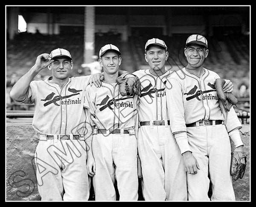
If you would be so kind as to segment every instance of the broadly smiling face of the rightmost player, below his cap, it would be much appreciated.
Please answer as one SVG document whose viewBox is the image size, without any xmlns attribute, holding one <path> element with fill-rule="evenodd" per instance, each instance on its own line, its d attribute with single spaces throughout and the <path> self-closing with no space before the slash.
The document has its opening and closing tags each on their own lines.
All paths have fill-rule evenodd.
<svg viewBox="0 0 256 207">
<path fill-rule="evenodd" d="M 201 45 L 191 44 L 184 49 L 184 54 L 188 62 L 188 69 L 198 69 L 203 66 L 209 50 Z"/>
</svg>

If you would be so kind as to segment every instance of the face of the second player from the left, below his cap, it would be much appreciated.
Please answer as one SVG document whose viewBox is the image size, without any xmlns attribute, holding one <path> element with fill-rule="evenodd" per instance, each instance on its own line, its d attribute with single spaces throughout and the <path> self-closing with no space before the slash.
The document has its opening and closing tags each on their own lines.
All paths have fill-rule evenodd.
<svg viewBox="0 0 256 207">
<path fill-rule="evenodd" d="M 119 54 L 111 50 L 105 52 L 99 59 L 99 63 L 106 74 L 116 74 L 121 62 L 122 58 L 119 57 Z"/>
</svg>

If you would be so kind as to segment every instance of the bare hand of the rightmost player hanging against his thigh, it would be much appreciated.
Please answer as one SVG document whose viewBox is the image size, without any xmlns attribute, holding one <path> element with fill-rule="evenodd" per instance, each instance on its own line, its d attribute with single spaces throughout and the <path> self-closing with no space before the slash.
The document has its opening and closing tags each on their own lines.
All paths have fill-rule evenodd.
<svg viewBox="0 0 256 207">
<path fill-rule="evenodd" d="M 182 154 L 185 171 L 189 174 L 197 174 L 199 168 L 199 164 L 195 157 L 192 155 L 192 152 L 186 151 Z"/>
</svg>

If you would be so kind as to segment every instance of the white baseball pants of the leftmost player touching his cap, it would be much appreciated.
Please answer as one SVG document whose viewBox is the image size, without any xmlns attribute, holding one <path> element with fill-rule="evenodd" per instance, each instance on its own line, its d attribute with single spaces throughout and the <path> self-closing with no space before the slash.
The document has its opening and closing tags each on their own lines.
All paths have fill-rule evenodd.
<svg viewBox="0 0 256 207">
<path fill-rule="evenodd" d="M 38 191 L 42 201 L 87 201 L 89 180 L 86 143 L 40 140 L 35 150 Z"/>
</svg>

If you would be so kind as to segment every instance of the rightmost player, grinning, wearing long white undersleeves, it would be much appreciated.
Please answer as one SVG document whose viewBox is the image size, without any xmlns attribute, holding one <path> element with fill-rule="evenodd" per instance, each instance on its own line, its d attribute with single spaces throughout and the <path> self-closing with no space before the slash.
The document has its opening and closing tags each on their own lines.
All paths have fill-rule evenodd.
<svg viewBox="0 0 256 207">
<path fill-rule="evenodd" d="M 220 77 L 203 67 L 209 53 L 206 38 L 199 34 L 189 36 L 184 53 L 188 64 L 169 77 L 166 99 L 170 126 L 187 173 L 188 199 L 233 201 L 229 136 L 236 145 L 235 151 L 243 152 L 241 123 L 233 107 L 221 113 L 215 88 L 215 80 Z M 209 178 L 211 198 L 207 194 Z"/>
</svg>

